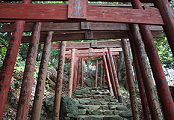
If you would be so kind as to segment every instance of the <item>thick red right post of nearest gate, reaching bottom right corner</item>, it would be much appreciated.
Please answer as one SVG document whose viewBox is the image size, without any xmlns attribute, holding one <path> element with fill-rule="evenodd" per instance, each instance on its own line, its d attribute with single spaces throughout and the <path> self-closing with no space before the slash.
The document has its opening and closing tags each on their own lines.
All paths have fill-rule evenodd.
<svg viewBox="0 0 174 120">
<path fill-rule="evenodd" d="M 142 9 L 141 3 L 139 0 L 132 1 L 132 5 L 136 9 L 137 8 Z M 172 12 L 172 14 L 173 14 L 173 12 Z M 174 21 L 174 19 L 172 19 L 172 20 Z M 140 27 L 141 35 L 143 37 L 143 42 L 144 42 L 144 45 L 146 48 L 146 52 L 149 57 L 149 61 L 150 61 L 153 76 L 155 79 L 158 95 L 159 95 L 161 106 L 162 106 L 163 113 L 164 113 L 164 117 L 165 117 L 165 119 L 174 119 L 173 99 L 172 99 L 172 96 L 170 93 L 170 89 L 169 89 L 169 86 L 168 86 L 168 83 L 167 83 L 167 80 L 166 80 L 166 77 L 165 77 L 165 74 L 164 74 L 164 71 L 163 71 L 163 68 L 161 65 L 161 61 L 160 61 L 154 40 L 153 40 L 153 36 L 151 34 L 151 31 L 150 31 L 148 25 L 139 25 L 139 27 Z M 173 36 L 173 34 L 172 34 L 172 36 Z M 172 37 L 172 39 L 173 39 L 173 37 Z M 173 41 L 173 44 L 174 44 L 174 41 Z M 164 97 L 164 96 L 166 96 L 166 97 Z"/>
</svg>

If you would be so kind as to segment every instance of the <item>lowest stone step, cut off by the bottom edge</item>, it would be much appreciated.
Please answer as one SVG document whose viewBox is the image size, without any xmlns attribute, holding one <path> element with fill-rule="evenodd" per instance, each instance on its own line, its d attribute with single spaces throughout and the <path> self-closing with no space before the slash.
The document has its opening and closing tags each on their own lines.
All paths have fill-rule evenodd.
<svg viewBox="0 0 174 120">
<path fill-rule="evenodd" d="M 77 120 L 131 120 L 132 118 L 123 118 L 119 115 L 82 115 L 78 116 Z"/>
</svg>

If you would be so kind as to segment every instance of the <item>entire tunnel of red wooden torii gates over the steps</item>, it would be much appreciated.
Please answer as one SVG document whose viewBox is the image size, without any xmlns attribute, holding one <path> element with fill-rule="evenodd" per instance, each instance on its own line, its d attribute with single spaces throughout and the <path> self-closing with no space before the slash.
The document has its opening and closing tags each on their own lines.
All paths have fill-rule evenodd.
<svg viewBox="0 0 174 120">
<path fill-rule="evenodd" d="M 6 1 L 10 0 L 0 0 L 0 22 L 15 22 L 15 24 L 3 25 L 2 28 L 2 32 L 12 32 L 12 35 L 0 73 L 0 119 L 3 116 L 12 72 L 21 42 L 30 44 L 16 119 L 27 119 L 38 43 L 44 42 L 32 108 L 32 120 L 40 119 L 44 80 L 51 48 L 60 49 L 53 109 L 54 120 L 59 119 L 65 57 L 71 59 L 69 97 L 71 97 L 72 90 L 79 86 L 79 78 L 77 79 L 79 77 L 78 61 L 96 58 L 96 66 L 98 66 L 100 64 L 98 60 L 102 58 L 103 65 L 101 65 L 104 68 L 108 88 L 118 98 L 119 102 L 122 102 L 116 75 L 118 61 L 115 57 L 119 55 L 118 51 L 120 50 L 123 50 L 124 53 L 133 119 L 138 120 L 139 114 L 135 99 L 132 65 L 128 52 L 129 43 L 144 118 L 146 120 L 150 118 L 152 120 L 162 120 L 164 116 L 166 120 L 174 120 L 173 99 L 153 41 L 154 37 L 161 37 L 160 32 L 163 30 L 174 55 L 174 14 L 167 0 L 100 0 L 105 2 L 130 2 L 132 6 L 127 8 L 124 5 L 124 7 L 121 7 L 121 5 L 119 7 L 103 4 L 102 6 L 90 5 L 88 0 L 69 0 L 68 5 L 31 4 L 31 0 L 23 0 L 22 3 L 18 4 L 4 3 Z M 142 7 L 141 2 L 153 3 L 155 7 Z M 32 31 L 32 35 L 22 36 L 24 31 Z M 121 40 L 99 42 L 96 41 L 98 39 Z M 129 41 L 127 41 L 128 39 Z M 92 41 L 91 43 L 66 42 L 70 40 Z M 51 41 L 61 42 L 51 45 Z M 151 70 L 153 78 L 150 74 Z M 97 86 L 97 84 L 95 85 Z"/>
</svg>

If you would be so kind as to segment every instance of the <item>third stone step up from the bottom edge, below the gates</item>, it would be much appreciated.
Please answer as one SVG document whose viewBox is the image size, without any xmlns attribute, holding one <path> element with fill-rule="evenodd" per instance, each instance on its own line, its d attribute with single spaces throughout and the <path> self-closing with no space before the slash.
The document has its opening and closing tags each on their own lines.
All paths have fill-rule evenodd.
<svg viewBox="0 0 174 120">
<path fill-rule="evenodd" d="M 78 109 L 90 109 L 90 110 L 127 110 L 124 105 L 78 105 Z"/>
</svg>

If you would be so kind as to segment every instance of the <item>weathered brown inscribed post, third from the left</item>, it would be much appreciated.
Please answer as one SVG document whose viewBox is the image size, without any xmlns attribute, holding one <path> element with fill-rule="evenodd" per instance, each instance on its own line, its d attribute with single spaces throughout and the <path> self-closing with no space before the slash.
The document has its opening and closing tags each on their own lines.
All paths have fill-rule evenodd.
<svg viewBox="0 0 174 120">
<path fill-rule="evenodd" d="M 48 32 L 47 38 L 45 39 L 44 48 L 42 52 L 42 60 L 39 68 L 39 75 L 37 79 L 37 85 L 34 96 L 34 103 L 32 108 L 31 120 L 40 120 L 40 113 L 42 107 L 42 100 L 45 88 L 45 79 L 47 75 L 47 68 L 49 63 L 49 56 L 51 51 L 51 39 L 53 32 Z"/>
</svg>

